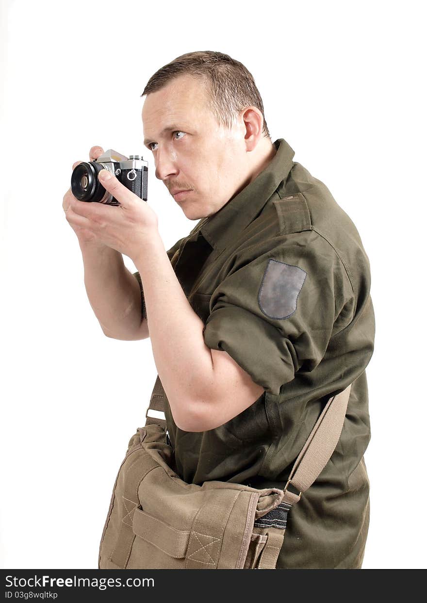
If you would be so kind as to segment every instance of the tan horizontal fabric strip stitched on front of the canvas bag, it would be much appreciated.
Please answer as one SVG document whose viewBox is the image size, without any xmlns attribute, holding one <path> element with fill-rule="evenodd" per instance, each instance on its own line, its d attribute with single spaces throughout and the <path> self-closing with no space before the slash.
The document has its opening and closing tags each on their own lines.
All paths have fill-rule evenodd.
<svg viewBox="0 0 427 603">
<path fill-rule="evenodd" d="M 169 557 L 185 557 L 190 532 L 180 531 L 136 508 L 132 522 L 133 533 L 156 546 Z"/>
</svg>

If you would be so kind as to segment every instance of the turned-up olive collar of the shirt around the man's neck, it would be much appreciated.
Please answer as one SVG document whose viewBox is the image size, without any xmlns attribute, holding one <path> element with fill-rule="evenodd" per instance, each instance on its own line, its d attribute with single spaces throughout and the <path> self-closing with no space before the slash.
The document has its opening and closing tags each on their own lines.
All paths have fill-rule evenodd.
<svg viewBox="0 0 427 603">
<path fill-rule="evenodd" d="M 236 239 L 236 236 L 255 219 L 280 182 L 286 180 L 293 166 L 294 151 L 285 139 L 274 142 L 276 154 L 267 167 L 228 201 L 217 213 L 201 221 L 200 232 L 218 253 Z"/>
</svg>

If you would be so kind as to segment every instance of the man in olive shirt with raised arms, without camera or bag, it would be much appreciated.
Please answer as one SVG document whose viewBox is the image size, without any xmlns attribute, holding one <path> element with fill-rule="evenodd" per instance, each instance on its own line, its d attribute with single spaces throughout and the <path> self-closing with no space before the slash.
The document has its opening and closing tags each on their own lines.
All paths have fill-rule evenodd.
<svg viewBox="0 0 427 603">
<path fill-rule="evenodd" d="M 337 448 L 291 509 L 276 567 L 359 568 L 375 319 L 358 232 L 286 141 L 273 144 L 241 63 L 188 53 L 144 95 L 156 177 L 199 221 L 166 253 L 153 209 L 115 177 L 99 176 L 119 208 L 68 192 L 93 311 L 109 337 L 150 336 L 153 396 L 189 483 L 283 489 L 327 399 L 352 384 Z"/>
</svg>

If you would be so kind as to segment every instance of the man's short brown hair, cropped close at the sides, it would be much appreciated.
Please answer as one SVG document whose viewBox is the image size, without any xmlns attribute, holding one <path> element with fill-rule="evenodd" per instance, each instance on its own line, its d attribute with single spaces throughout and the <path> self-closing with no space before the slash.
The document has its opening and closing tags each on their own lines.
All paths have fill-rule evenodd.
<svg viewBox="0 0 427 603">
<path fill-rule="evenodd" d="M 141 96 L 156 92 L 179 75 L 205 78 L 209 86 L 210 109 L 218 124 L 230 129 L 239 111 L 245 107 L 256 107 L 264 118 L 262 132 L 270 138 L 261 95 L 251 73 L 242 63 L 223 52 L 187 52 L 151 75 Z"/>
</svg>

